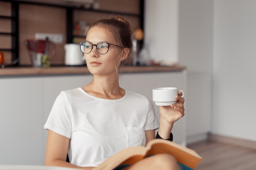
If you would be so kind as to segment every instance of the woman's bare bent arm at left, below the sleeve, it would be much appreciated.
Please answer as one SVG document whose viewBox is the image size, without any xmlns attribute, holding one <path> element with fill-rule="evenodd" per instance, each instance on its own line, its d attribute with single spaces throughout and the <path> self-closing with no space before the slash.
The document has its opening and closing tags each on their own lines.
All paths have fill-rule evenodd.
<svg viewBox="0 0 256 170">
<path fill-rule="evenodd" d="M 79 167 L 66 162 L 69 144 L 69 138 L 59 135 L 52 130 L 48 130 L 45 152 L 45 165 L 92 170 L 93 167 Z"/>
</svg>

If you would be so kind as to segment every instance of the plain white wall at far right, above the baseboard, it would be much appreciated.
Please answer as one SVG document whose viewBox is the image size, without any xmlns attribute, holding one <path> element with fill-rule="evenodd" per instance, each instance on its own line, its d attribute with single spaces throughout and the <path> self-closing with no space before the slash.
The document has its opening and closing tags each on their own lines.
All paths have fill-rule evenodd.
<svg viewBox="0 0 256 170">
<path fill-rule="evenodd" d="M 214 0 L 212 132 L 256 141 L 256 1 Z"/>
</svg>

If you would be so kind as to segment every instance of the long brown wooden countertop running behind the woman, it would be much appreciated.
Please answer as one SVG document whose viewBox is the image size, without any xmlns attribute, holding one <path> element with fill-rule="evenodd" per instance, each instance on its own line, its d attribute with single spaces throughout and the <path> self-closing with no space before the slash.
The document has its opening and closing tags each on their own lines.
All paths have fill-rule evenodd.
<svg viewBox="0 0 256 170">
<path fill-rule="evenodd" d="M 121 73 L 148 73 L 182 71 L 184 66 L 127 66 L 121 68 Z M 22 75 L 79 75 L 90 74 L 86 66 L 52 66 L 50 68 L 6 67 L 0 68 L 0 76 Z"/>
</svg>

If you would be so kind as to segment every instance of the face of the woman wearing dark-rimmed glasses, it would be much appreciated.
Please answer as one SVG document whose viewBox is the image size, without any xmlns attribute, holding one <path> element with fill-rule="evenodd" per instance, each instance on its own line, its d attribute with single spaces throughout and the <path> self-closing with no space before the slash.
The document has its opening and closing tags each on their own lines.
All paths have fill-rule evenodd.
<svg viewBox="0 0 256 170">
<path fill-rule="evenodd" d="M 117 44 L 108 29 L 97 26 L 92 27 L 88 31 L 86 41 L 91 44 L 98 44 L 99 42 Z M 92 51 L 88 54 L 84 54 L 84 56 L 87 67 L 93 75 L 116 74 L 115 69 L 119 67 L 121 61 L 119 49 L 114 45 L 109 46 L 109 50 L 106 54 L 99 54 L 96 50 L 96 46 L 93 46 Z"/>
</svg>

